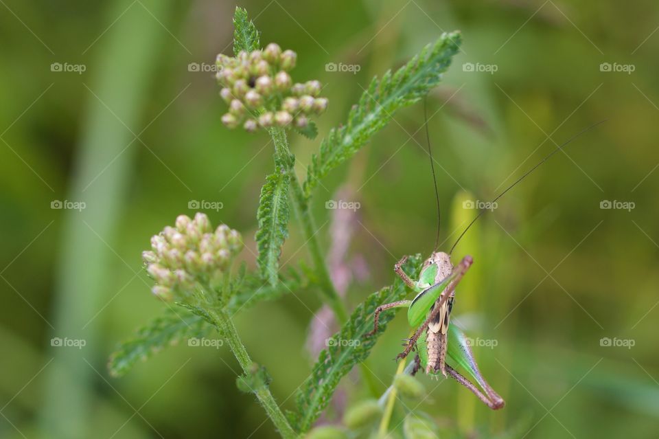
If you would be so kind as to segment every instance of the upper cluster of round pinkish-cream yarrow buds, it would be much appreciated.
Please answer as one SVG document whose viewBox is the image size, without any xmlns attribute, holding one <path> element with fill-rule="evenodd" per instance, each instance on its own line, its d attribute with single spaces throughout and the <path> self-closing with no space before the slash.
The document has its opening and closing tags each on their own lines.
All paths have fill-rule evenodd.
<svg viewBox="0 0 659 439">
<path fill-rule="evenodd" d="M 259 126 L 306 128 L 310 115 L 327 109 L 327 98 L 319 97 L 319 81 L 292 82 L 288 71 L 296 60 L 295 52 L 282 52 L 275 43 L 251 53 L 241 51 L 235 57 L 218 55 L 220 95 L 229 104 L 222 123 L 228 128 L 242 124 L 249 132 Z"/>
</svg>

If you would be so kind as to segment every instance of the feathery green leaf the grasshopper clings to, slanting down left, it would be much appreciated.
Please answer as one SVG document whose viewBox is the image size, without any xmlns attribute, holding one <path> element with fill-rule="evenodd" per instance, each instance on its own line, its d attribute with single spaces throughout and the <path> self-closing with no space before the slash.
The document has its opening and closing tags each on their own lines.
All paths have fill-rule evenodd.
<svg viewBox="0 0 659 439">
<path fill-rule="evenodd" d="M 416 275 L 421 256 L 417 255 L 406 262 L 406 272 Z M 382 313 L 378 332 L 371 337 L 366 334 L 373 329 L 373 313 L 381 304 L 394 302 L 406 295 L 405 284 L 396 279 L 393 286 L 388 286 L 367 297 L 350 316 L 341 330 L 332 337 L 335 341 L 321 351 L 314 365 L 311 376 L 297 391 L 297 414 L 292 415 L 294 427 L 305 433 L 312 427 L 323 409 L 327 407 L 336 386 L 354 365 L 369 356 L 378 337 L 386 329 L 386 324 L 393 318 L 393 313 Z"/>
</svg>

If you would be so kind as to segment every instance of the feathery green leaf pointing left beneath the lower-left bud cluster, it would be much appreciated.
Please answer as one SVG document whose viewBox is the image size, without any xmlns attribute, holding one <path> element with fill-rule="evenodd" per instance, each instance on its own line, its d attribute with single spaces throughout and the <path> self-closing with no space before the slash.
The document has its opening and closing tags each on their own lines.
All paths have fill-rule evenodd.
<svg viewBox="0 0 659 439">
<path fill-rule="evenodd" d="M 108 370 L 122 376 L 138 361 L 146 361 L 154 353 L 182 339 L 203 337 L 208 331 L 202 317 L 189 311 L 167 309 L 161 317 L 137 330 L 132 339 L 124 341 L 110 357 Z"/>
</svg>

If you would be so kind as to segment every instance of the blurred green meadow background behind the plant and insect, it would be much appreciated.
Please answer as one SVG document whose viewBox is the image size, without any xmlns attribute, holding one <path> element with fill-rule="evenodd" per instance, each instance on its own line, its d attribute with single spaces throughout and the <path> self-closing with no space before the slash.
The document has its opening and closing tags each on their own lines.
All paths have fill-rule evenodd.
<svg viewBox="0 0 659 439">
<path fill-rule="evenodd" d="M 222 203 L 205 212 L 243 233 L 251 250 L 244 260 L 255 264 L 255 212 L 272 144 L 263 133 L 222 126 L 225 106 L 209 71 L 216 54 L 231 53 L 235 3 L 0 3 L 0 436 L 277 437 L 254 398 L 236 389 L 239 368 L 226 346 L 176 346 L 122 379 L 106 372 L 117 342 L 161 310 L 141 250 L 177 214 L 193 214 L 189 203 Z M 457 383 L 421 378 L 432 392 L 419 409 L 446 437 L 656 437 L 659 6 L 240 5 L 262 43 L 297 52 L 294 79 L 325 85 L 330 106 L 319 139 L 345 120 L 373 75 L 443 30 L 463 31 L 463 51 L 428 100 L 445 249 L 475 212 L 463 201 L 492 199 L 555 142 L 608 119 L 507 194 L 456 249 L 476 263 L 455 319 L 496 345 L 474 349 L 507 406 L 489 412 Z M 359 268 L 347 290 L 351 307 L 392 282 L 395 260 L 432 249 L 423 122 L 421 104 L 397 113 L 314 196 L 325 249 L 336 213 L 325 203 L 360 203 L 344 218 L 354 234 L 342 260 Z M 300 175 L 318 146 L 292 136 Z M 603 209 L 604 201 L 634 208 Z M 293 221 L 282 261 L 307 258 L 302 245 Z M 303 291 L 236 317 L 287 409 L 314 359 L 305 339 L 320 306 Z M 407 331 L 398 316 L 371 354 L 382 391 Z M 52 346 L 56 337 L 84 346 Z M 345 378 L 342 398 L 365 396 L 351 385 L 358 379 Z"/>
</svg>

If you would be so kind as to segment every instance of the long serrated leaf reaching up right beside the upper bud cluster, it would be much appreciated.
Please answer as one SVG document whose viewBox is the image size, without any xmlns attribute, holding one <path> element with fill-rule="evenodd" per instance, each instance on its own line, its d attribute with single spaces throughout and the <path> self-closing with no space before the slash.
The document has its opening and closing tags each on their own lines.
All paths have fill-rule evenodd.
<svg viewBox="0 0 659 439">
<path fill-rule="evenodd" d="M 368 90 L 351 109 L 347 122 L 329 131 L 321 143 L 320 155 L 312 156 L 304 182 L 305 196 L 311 196 L 320 179 L 352 157 L 384 128 L 397 110 L 418 102 L 435 87 L 460 43 L 459 32 L 442 34 L 395 74 L 387 71 L 381 80 L 373 78 Z"/>
</svg>

